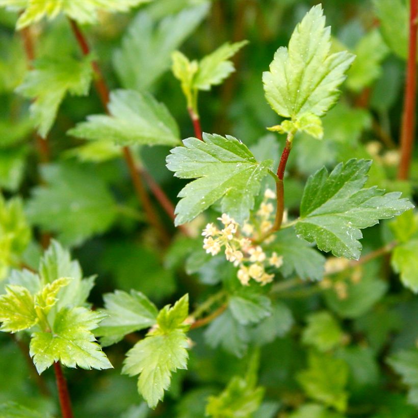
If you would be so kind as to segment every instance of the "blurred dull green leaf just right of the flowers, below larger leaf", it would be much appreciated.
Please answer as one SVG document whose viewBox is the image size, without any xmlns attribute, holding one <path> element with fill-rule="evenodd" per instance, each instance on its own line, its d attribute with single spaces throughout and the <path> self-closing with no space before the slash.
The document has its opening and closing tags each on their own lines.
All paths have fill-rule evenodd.
<svg viewBox="0 0 418 418">
<path fill-rule="evenodd" d="M 304 240 L 299 239 L 293 228 L 285 228 L 276 234 L 269 248 L 283 257 L 280 272 L 289 277 L 297 274 L 303 280 L 321 280 L 324 276 L 325 257 Z"/>
</svg>

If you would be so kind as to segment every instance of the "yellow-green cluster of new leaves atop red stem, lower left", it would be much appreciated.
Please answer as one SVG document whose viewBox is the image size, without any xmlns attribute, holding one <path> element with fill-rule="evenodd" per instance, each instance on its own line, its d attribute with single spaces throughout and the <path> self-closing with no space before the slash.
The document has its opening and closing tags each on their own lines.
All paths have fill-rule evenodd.
<svg viewBox="0 0 418 418">
<path fill-rule="evenodd" d="M 0 296 L 0 330 L 31 333 L 30 355 L 39 374 L 56 361 L 72 368 L 112 368 L 91 332 L 105 317 L 86 305 L 92 286 L 93 278 L 82 278 L 79 264 L 58 242 L 42 257 L 39 274 L 12 272 Z"/>
</svg>

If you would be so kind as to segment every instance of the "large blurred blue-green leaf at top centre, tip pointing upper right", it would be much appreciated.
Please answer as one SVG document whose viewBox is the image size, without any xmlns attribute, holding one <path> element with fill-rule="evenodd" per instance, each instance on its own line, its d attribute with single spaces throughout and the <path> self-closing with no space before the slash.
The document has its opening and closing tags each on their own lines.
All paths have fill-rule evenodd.
<svg viewBox="0 0 418 418">
<path fill-rule="evenodd" d="M 196 29 L 208 4 L 191 7 L 160 21 L 141 12 L 129 25 L 113 66 L 126 89 L 145 91 L 170 67 L 170 55 Z"/>
</svg>

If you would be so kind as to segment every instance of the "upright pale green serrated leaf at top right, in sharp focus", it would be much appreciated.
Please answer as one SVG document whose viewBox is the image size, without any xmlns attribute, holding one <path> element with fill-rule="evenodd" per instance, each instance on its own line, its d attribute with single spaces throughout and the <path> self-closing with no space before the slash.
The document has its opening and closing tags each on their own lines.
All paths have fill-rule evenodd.
<svg viewBox="0 0 418 418">
<path fill-rule="evenodd" d="M 330 54 L 330 47 L 322 7 L 314 6 L 297 25 L 289 49 L 277 49 L 270 71 L 263 73 L 267 101 L 280 116 L 322 116 L 334 105 L 354 56 L 347 51 Z"/>
</svg>

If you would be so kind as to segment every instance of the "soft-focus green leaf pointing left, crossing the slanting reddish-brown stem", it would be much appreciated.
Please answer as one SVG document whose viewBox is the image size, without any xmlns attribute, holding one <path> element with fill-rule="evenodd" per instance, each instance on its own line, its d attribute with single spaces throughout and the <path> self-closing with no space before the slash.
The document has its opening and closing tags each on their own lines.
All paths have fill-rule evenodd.
<svg viewBox="0 0 418 418">
<path fill-rule="evenodd" d="M 108 115 L 91 115 L 68 135 L 118 145 L 178 145 L 178 126 L 163 105 L 149 93 L 116 90 L 110 95 Z"/>
</svg>

